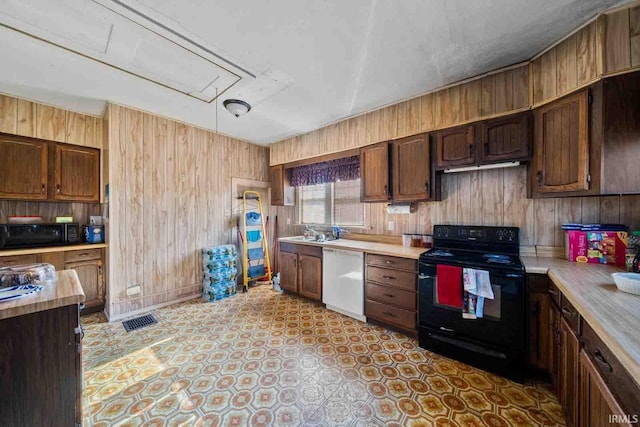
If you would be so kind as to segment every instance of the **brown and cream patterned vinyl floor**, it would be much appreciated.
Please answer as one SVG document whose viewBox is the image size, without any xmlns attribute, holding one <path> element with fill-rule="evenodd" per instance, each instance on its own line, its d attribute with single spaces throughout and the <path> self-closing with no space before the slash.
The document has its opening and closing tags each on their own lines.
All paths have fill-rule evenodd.
<svg viewBox="0 0 640 427">
<path fill-rule="evenodd" d="M 268 287 L 156 315 L 132 333 L 83 317 L 85 426 L 564 425 L 548 386 Z"/>
</svg>

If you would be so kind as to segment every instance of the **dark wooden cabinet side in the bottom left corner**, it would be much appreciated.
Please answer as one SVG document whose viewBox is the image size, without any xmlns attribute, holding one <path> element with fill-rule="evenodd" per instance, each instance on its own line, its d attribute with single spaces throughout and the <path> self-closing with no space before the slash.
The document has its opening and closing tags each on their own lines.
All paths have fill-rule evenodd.
<svg viewBox="0 0 640 427">
<path fill-rule="evenodd" d="M 3 426 L 82 423 L 78 305 L 0 320 Z"/>
</svg>

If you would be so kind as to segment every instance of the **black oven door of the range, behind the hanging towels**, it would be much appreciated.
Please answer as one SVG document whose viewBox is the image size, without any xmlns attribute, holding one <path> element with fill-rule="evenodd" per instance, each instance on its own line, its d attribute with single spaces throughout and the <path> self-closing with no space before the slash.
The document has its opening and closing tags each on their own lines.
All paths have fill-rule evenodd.
<svg viewBox="0 0 640 427">
<path fill-rule="evenodd" d="M 421 263 L 420 325 L 505 348 L 523 349 L 524 274 L 489 270 L 489 276 L 494 299 L 485 299 L 484 317 L 463 319 L 460 308 L 438 302 L 436 266 Z"/>
</svg>

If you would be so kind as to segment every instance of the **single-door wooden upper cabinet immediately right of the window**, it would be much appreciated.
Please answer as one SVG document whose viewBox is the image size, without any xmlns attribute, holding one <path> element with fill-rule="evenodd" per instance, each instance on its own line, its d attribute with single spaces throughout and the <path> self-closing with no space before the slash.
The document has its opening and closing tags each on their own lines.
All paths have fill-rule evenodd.
<svg viewBox="0 0 640 427">
<path fill-rule="evenodd" d="M 362 202 L 391 200 L 387 142 L 360 149 L 360 200 Z"/>
</svg>

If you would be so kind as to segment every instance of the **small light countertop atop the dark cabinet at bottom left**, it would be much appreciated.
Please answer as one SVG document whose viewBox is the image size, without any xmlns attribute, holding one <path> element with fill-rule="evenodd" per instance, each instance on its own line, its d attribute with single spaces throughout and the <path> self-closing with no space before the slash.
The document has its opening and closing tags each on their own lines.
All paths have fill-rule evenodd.
<svg viewBox="0 0 640 427">
<path fill-rule="evenodd" d="M 0 302 L 0 320 L 84 302 L 84 292 L 75 270 L 60 270 L 55 282 L 35 294 Z"/>
</svg>

